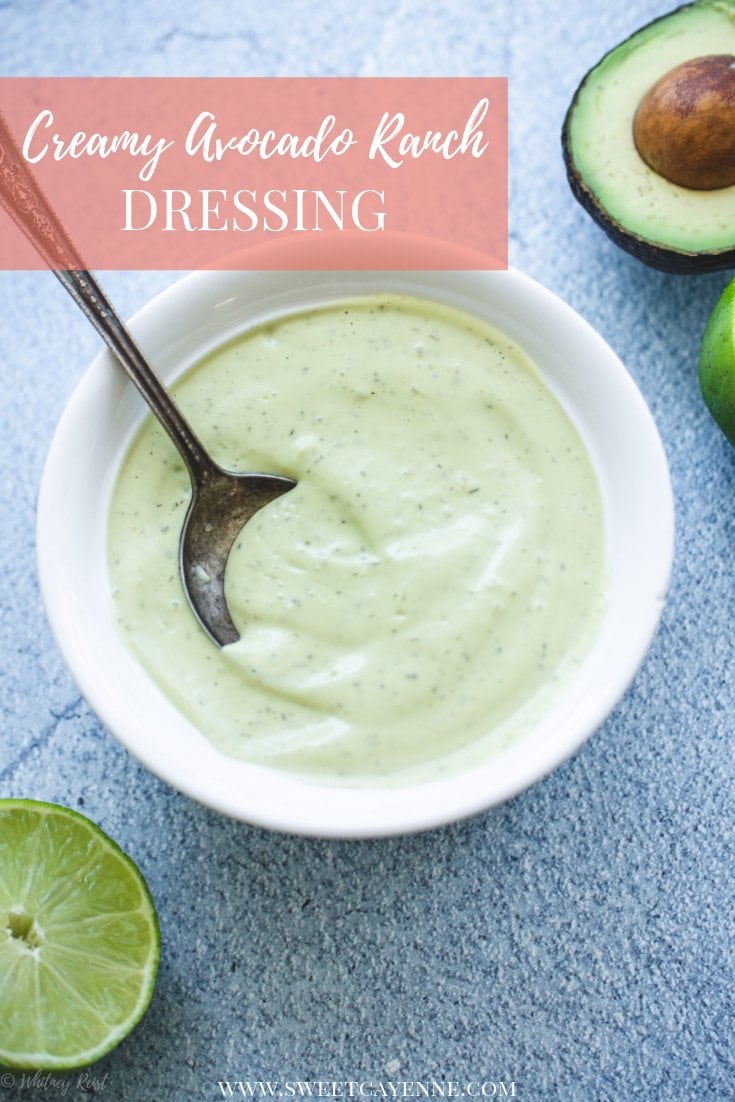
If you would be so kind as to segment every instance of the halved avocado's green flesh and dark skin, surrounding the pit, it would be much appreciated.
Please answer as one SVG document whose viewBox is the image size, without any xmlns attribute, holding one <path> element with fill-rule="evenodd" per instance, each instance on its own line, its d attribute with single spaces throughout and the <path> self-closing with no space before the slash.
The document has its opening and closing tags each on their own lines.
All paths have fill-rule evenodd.
<svg viewBox="0 0 735 1102">
<path fill-rule="evenodd" d="M 722 67 L 723 57 L 731 82 L 725 121 L 715 119 L 712 130 L 732 139 L 728 55 L 735 65 L 735 0 L 696 0 L 605 54 L 566 112 L 562 147 L 572 192 L 616 245 L 651 268 L 735 268 L 735 184 L 673 183 L 649 166 L 634 139 L 636 112 L 657 82 L 694 58 L 720 60 Z M 732 155 L 723 153 L 728 163 Z"/>
</svg>

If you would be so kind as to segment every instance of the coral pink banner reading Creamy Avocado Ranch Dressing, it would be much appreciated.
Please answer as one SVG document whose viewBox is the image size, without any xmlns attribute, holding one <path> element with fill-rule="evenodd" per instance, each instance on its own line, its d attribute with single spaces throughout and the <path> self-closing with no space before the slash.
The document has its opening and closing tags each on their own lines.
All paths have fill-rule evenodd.
<svg viewBox="0 0 735 1102">
<path fill-rule="evenodd" d="M 0 112 L 3 192 L 91 269 L 507 266 L 501 77 L 6 77 Z M 43 263 L 0 210 L 0 268 Z"/>
</svg>

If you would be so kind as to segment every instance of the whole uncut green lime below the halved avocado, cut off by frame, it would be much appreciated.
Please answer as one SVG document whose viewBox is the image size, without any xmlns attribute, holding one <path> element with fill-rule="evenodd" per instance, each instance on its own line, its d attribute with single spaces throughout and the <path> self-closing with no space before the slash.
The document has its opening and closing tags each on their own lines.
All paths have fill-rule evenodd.
<svg viewBox="0 0 735 1102">
<path fill-rule="evenodd" d="M 714 305 L 702 336 L 700 390 L 731 444 L 735 444 L 735 279 Z"/>
</svg>

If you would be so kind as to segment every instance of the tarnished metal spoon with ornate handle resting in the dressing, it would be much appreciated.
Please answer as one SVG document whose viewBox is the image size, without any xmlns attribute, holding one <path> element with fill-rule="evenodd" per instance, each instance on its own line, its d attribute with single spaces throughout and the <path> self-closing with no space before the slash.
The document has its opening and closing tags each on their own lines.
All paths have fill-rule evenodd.
<svg viewBox="0 0 735 1102">
<path fill-rule="evenodd" d="M 225 566 L 233 543 L 258 509 L 292 489 L 292 478 L 225 471 L 209 456 L 136 345 L 18 149 L 0 114 L 0 204 L 95 326 L 179 449 L 192 499 L 179 545 L 184 591 L 199 624 L 224 647 L 239 633 L 225 599 Z"/>
</svg>

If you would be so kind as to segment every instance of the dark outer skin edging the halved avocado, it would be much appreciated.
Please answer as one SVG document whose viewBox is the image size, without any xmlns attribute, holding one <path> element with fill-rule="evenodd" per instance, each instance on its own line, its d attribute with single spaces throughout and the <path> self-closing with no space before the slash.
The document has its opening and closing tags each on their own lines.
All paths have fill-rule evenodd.
<svg viewBox="0 0 735 1102">
<path fill-rule="evenodd" d="M 608 50 L 607 53 L 604 54 L 591 69 L 588 69 L 580 82 L 576 91 L 572 97 L 572 102 L 569 106 L 569 110 L 566 111 L 564 123 L 562 126 L 562 154 L 564 159 L 564 168 L 566 170 L 566 179 L 574 198 L 587 212 L 601 229 L 607 234 L 610 240 L 618 246 L 618 248 L 624 249 L 626 252 L 630 253 L 630 256 L 640 260 L 641 263 L 647 264 L 649 268 L 656 268 L 658 271 L 670 272 L 674 276 L 696 276 L 703 274 L 704 272 L 722 271 L 728 268 L 735 268 L 735 246 L 716 251 L 689 252 L 682 249 L 668 248 L 666 245 L 657 244 L 655 241 L 648 241 L 642 237 L 638 237 L 629 229 L 626 229 L 625 226 L 612 218 L 605 208 L 601 206 L 593 192 L 585 184 L 582 174 L 576 169 L 572 158 L 570 126 L 576 102 L 588 77 L 599 65 L 602 65 L 605 58 L 609 57 L 610 54 L 614 54 L 620 48 L 620 46 L 624 46 L 630 41 L 630 39 L 635 37 L 641 31 L 656 26 L 657 23 L 664 22 L 671 15 L 694 7 L 696 7 L 696 0 L 694 3 L 681 4 L 679 8 L 664 12 L 662 15 L 651 20 L 649 23 L 645 23 L 642 26 L 639 26 L 631 35 L 624 39 L 623 42 L 618 42 L 618 44 L 613 46 L 612 50 Z"/>
</svg>

